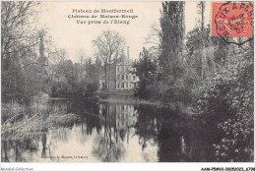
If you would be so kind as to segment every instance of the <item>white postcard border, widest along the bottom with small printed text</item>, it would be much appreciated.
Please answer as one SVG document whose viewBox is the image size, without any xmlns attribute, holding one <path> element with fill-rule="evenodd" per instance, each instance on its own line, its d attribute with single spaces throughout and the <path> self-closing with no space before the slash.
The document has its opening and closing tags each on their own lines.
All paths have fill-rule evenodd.
<svg viewBox="0 0 256 172">
<path fill-rule="evenodd" d="M 8 1 L 8 0 L 1 0 L 1 1 Z M 39 1 L 39 0 L 33 0 Z M 50 1 L 50 0 L 43 0 L 43 1 Z M 55 0 L 57 2 L 64 2 L 68 0 Z M 85 1 L 85 0 L 76 0 L 78 2 Z M 87 0 L 93 1 L 93 0 Z M 94 1 L 103 1 L 103 0 L 94 0 Z M 136 1 L 136 0 L 111 0 L 111 1 Z M 140 1 L 160 1 L 160 0 L 140 0 Z M 178 1 L 178 0 L 176 0 Z M 198 1 L 198 0 L 186 0 L 186 1 Z M 210 1 L 210 0 L 205 0 Z M 224 0 L 215 0 L 215 1 L 224 1 Z M 237 0 L 234 0 L 237 1 Z M 253 0 L 247 0 L 253 1 Z M 74 2 L 74 1 L 73 1 Z M 254 1 L 253 1 L 254 2 Z M 255 12 L 255 4 L 254 4 L 254 12 Z M 255 28 L 255 23 L 254 23 Z M 0 30 L 1 33 L 1 30 Z M 255 40 L 255 38 L 254 38 Z M 1 39 L 0 39 L 1 41 Z M 254 41 L 255 42 L 255 41 Z M 255 45 L 254 45 L 254 57 L 256 57 L 255 53 Z M 255 63 L 255 62 L 254 62 Z M 255 66 L 255 65 L 254 65 Z M 0 66 L 1 69 L 1 66 Z M 0 72 L 1 73 L 1 72 Z M 254 67 L 254 81 L 256 79 L 256 69 Z M 1 81 L 1 78 L 0 78 Z M 0 83 L 1 86 L 1 83 Z M 256 88 L 254 86 L 254 92 L 256 92 Z M 0 94 L 1 99 L 1 94 Z M 255 114 L 255 96 L 254 96 L 254 114 Z M 1 108 L 1 107 L 0 107 Z M 1 119 L 1 116 L 0 116 Z M 255 124 L 254 118 L 254 124 Z M 1 138 L 1 137 L 0 137 Z M 254 132 L 254 147 L 255 147 L 255 132 Z M 1 151 L 1 150 L 0 150 Z M 228 163 L 220 163 L 220 162 L 179 162 L 179 163 L 5 163 L 0 162 L 0 171 L 30 171 L 25 170 L 26 168 L 32 169 L 31 171 L 201 171 L 202 168 L 206 167 L 215 167 L 215 168 L 222 168 L 222 167 L 243 167 L 245 170 L 247 167 L 254 167 L 255 168 L 255 154 L 256 150 L 254 148 L 254 162 L 228 162 Z M 3 168 L 9 168 L 10 170 L 2 170 Z M 212 170 L 214 171 L 214 170 Z M 215 170 L 219 171 L 219 170 Z"/>
</svg>

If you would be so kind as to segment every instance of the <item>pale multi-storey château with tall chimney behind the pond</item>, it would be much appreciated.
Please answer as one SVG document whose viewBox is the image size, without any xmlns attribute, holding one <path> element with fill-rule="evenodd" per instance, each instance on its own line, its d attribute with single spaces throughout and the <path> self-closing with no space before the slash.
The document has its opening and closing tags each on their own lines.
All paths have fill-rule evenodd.
<svg viewBox="0 0 256 172">
<path fill-rule="evenodd" d="M 123 51 L 116 62 L 111 64 L 110 72 L 109 70 L 107 72 L 106 84 L 104 71 L 101 71 L 99 90 L 104 87 L 108 90 L 132 90 L 139 81 L 135 70 L 132 67 L 132 60 L 129 59 L 129 48 L 127 48 L 127 55 Z"/>
</svg>

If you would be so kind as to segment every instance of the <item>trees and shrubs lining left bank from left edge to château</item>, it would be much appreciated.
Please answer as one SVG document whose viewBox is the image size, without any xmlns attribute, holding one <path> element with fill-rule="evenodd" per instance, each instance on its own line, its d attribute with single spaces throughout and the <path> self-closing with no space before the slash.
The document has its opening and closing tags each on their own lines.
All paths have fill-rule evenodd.
<svg viewBox="0 0 256 172">
<path fill-rule="evenodd" d="M 29 104 L 43 93 L 91 95 L 97 89 L 96 65 L 92 60 L 73 65 L 64 50 L 56 50 L 45 29 L 36 29 L 39 5 L 2 2 L 2 100 Z"/>
</svg>

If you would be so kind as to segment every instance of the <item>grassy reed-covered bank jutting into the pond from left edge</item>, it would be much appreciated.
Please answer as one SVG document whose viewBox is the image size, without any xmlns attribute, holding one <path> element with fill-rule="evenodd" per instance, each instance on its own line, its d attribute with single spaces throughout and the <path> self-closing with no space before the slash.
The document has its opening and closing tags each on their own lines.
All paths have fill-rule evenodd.
<svg viewBox="0 0 256 172">
<path fill-rule="evenodd" d="M 2 104 L 1 138 L 3 141 L 26 140 L 48 130 L 73 124 L 78 116 L 63 111 L 49 112 L 42 107 Z M 4 112 L 4 113 L 3 113 Z"/>
</svg>

